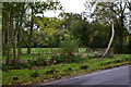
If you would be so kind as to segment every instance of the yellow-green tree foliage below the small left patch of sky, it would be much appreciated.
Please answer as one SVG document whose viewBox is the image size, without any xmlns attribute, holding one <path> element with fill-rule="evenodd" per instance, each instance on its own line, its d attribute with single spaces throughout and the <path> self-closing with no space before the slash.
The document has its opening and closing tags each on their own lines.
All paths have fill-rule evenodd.
<svg viewBox="0 0 131 87">
<path fill-rule="evenodd" d="M 66 29 L 61 29 L 62 21 L 57 17 L 35 17 L 35 22 L 40 27 L 39 32 L 34 34 L 34 44 L 39 42 L 40 46 L 59 47 L 60 40 L 69 36 Z M 44 39 L 45 38 L 45 39 Z"/>
</svg>

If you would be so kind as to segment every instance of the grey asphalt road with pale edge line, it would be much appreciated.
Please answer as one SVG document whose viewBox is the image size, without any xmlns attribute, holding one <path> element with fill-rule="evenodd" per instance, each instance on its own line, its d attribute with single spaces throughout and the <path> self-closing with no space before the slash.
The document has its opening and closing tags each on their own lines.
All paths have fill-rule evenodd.
<svg viewBox="0 0 131 87">
<path fill-rule="evenodd" d="M 90 86 L 90 85 L 129 85 L 129 71 L 131 66 L 121 66 L 116 67 L 111 70 L 105 70 L 100 72 L 95 72 L 87 75 L 81 75 L 73 78 L 67 78 L 67 79 L 60 79 L 51 83 L 40 84 L 40 86 L 45 85 L 83 85 L 83 86 Z M 102 87 L 102 86 L 99 86 Z M 107 86 L 106 86 L 107 87 Z M 121 87 L 121 86 L 119 86 Z M 129 87 L 129 86 L 123 86 Z"/>
</svg>

